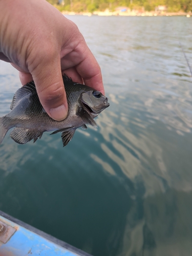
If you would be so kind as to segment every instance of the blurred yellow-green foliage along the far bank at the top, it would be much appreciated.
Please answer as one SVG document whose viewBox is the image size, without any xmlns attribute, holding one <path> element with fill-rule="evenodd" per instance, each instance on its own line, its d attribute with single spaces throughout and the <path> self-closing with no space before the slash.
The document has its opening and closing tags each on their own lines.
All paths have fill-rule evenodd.
<svg viewBox="0 0 192 256">
<path fill-rule="evenodd" d="M 154 11 L 159 5 L 167 6 L 167 11 L 178 12 L 192 11 L 191 0 L 47 0 L 50 4 L 54 5 L 60 11 L 104 11 L 109 9 L 110 11 L 115 10 L 118 6 L 126 6 L 130 9 L 139 10 L 144 7 L 145 11 Z M 65 3 L 61 5 L 60 3 Z"/>
</svg>

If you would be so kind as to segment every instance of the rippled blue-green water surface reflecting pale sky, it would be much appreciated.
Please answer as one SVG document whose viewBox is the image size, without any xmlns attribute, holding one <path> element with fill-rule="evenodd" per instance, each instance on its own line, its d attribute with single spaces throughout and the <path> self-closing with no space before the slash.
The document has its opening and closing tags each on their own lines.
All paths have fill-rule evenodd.
<svg viewBox="0 0 192 256">
<path fill-rule="evenodd" d="M 0 209 L 94 256 L 192 251 L 192 18 L 68 16 L 97 58 L 98 129 L 0 146 Z M 0 61 L 0 114 L 20 87 Z"/>
</svg>

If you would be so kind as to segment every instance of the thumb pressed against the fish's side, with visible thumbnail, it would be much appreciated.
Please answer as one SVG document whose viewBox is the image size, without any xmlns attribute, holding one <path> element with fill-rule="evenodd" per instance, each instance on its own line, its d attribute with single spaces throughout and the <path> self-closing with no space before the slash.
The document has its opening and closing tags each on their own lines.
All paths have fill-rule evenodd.
<svg viewBox="0 0 192 256">
<path fill-rule="evenodd" d="M 60 58 L 41 62 L 32 72 L 41 105 L 54 120 L 67 117 L 68 103 L 62 80 Z"/>
</svg>

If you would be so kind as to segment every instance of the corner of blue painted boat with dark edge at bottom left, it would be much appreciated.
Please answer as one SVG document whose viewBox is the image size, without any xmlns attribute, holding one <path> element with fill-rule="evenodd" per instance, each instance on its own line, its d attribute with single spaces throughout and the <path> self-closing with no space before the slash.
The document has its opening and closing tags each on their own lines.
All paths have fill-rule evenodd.
<svg viewBox="0 0 192 256">
<path fill-rule="evenodd" d="M 91 256 L 0 211 L 0 256 Z"/>
</svg>

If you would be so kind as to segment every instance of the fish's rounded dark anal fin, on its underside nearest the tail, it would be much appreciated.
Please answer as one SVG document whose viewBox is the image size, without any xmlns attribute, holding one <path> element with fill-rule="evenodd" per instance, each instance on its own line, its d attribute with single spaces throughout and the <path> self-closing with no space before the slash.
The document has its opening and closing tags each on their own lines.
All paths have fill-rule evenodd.
<svg viewBox="0 0 192 256">
<path fill-rule="evenodd" d="M 34 140 L 34 142 L 38 138 L 40 139 L 42 134 L 43 134 L 42 132 L 16 127 L 10 133 L 10 137 L 18 144 L 26 144 L 27 142 L 29 142 L 32 139 Z"/>
</svg>

